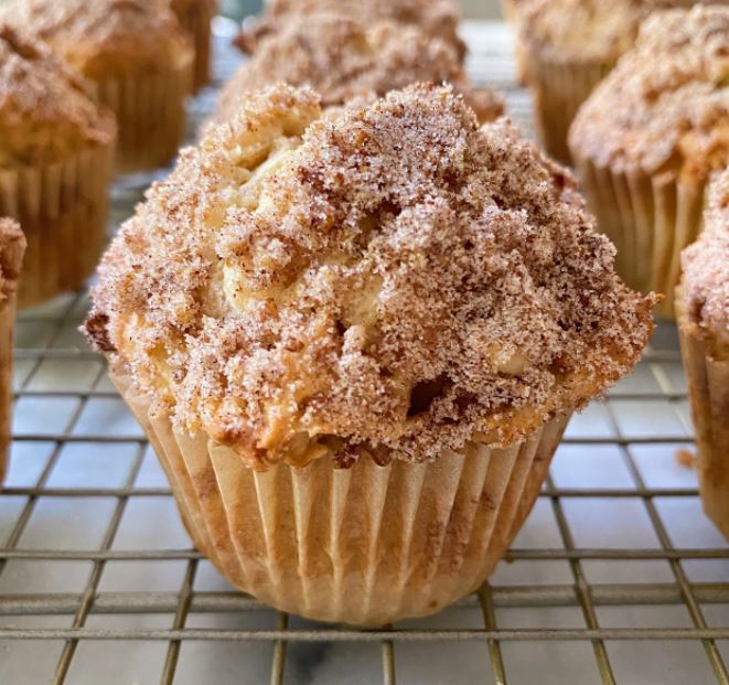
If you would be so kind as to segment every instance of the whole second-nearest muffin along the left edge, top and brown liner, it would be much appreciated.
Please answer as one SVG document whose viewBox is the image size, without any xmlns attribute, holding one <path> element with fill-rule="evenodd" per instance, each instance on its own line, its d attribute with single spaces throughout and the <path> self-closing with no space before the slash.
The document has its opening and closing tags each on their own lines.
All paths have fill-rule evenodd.
<svg viewBox="0 0 729 685">
<path fill-rule="evenodd" d="M 105 243 L 114 114 L 46 46 L 0 25 L 0 216 L 28 254 L 18 300 L 81 288 Z"/>
</svg>

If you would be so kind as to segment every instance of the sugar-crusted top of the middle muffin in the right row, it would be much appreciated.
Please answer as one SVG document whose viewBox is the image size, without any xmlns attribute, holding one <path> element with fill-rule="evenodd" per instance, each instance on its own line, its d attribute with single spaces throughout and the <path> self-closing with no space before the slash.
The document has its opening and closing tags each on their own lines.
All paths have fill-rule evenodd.
<svg viewBox="0 0 729 685">
<path fill-rule="evenodd" d="M 652 14 L 569 133 L 572 152 L 613 171 L 701 183 L 729 161 L 729 8 Z"/>
</svg>

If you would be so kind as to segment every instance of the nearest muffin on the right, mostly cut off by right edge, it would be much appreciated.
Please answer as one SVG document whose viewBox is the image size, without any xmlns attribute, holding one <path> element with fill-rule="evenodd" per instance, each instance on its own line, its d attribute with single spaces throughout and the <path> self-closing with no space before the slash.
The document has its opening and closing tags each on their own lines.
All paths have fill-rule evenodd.
<svg viewBox="0 0 729 685">
<path fill-rule="evenodd" d="M 683 254 L 676 312 L 704 509 L 729 538 L 729 170 L 711 185 L 704 224 Z"/>
</svg>

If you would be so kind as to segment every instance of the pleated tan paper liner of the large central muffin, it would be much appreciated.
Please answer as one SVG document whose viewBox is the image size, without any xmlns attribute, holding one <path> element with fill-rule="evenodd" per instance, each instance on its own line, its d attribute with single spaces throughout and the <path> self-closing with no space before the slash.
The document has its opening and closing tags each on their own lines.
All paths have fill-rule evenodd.
<svg viewBox="0 0 729 685">
<path fill-rule="evenodd" d="M 258 472 L 111 373 L 195 546 L 235 586 L 310 619 L 380 625 L 435 613 L 493 571 L 532 510 L 569 416 L 506 449 L 427 464 L 329 458 Z"/>
</svg>

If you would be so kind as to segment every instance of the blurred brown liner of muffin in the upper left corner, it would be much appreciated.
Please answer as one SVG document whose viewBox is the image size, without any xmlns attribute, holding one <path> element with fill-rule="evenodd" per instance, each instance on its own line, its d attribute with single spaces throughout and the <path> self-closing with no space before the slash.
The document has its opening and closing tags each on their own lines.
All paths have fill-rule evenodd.
<svg viewBox="0 0 729 685">
<path fill-rule="evenodd" d="M 178 153 L 185 136 L 193 55 L 190 50 L 174 68 L 97 82 L 98 98 L 114 110 L 119 126 L 117 171 L 164 167 Z"/>
</svg>

